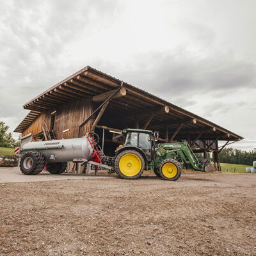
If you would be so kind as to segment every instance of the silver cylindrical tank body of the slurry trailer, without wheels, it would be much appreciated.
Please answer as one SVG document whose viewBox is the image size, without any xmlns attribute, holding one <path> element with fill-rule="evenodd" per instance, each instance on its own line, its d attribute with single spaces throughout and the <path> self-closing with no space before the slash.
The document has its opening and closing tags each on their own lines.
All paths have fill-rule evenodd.
<svg viewBox="0 0 256 256">
<path fill-rule="evenodd" d="M 73 159 L 89 159 L 93 154 L 89 141 L 83 138 L 28 142 L 20 148 L 22 153 L 36 150 L 47 162 L 67 162 Z"/>
</svg>

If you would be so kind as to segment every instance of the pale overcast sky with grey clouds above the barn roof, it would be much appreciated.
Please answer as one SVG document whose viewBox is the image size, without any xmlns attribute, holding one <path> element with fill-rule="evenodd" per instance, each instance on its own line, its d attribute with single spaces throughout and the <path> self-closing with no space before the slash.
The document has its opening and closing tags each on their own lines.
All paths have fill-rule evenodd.
<svg viewBox="0 0 256 256">
<path fill-rule="evenodd" d="M 256 148 L 256 1 L 1 0 L 0 120 L 90 65 Z M 16 138 L 19 136 L 13 133 Z"/>
</svg>

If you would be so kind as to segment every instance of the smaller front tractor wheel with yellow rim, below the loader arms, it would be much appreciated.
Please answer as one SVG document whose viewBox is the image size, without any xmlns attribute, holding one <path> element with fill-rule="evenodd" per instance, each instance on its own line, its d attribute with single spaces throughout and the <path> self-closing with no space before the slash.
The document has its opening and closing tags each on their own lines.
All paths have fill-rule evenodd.
<svg viewBox="0 0 256 256">
<path fill-rule="evenodd" d="M 159 165 L 159 173 L 165 180 L 177 180 L 181 175 L 181 165 L 177 160 L 165 159 Z"/>
</svg>

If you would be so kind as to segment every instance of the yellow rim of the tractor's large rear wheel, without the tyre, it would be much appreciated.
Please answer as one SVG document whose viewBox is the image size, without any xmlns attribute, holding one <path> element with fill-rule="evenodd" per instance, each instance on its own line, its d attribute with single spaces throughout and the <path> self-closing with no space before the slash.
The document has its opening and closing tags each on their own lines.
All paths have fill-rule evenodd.
<svg viewBox="0 0 256 256">
<path fill-rule="evenodd" d="M 141 170 L 140 157 L 135 154 L 125 154 L 119 161 L 119 170 L 125 176 L 132 177 L 137 175 Z"/>
</svg>

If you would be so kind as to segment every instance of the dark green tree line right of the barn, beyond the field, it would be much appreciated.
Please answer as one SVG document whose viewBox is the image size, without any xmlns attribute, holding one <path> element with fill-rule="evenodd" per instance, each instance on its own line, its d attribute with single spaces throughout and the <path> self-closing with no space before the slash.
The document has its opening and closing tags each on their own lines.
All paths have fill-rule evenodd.
<svg viewBox="0 0 256 256">
<path fill-rule="evenodd" d="M 220 152 L 221 163 L 252 165 L 253 161 L 256 161 L 256 149 L 246 152 L 236 148 L 223 148 Z"/>
</svg>

